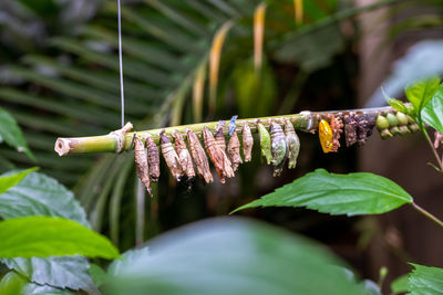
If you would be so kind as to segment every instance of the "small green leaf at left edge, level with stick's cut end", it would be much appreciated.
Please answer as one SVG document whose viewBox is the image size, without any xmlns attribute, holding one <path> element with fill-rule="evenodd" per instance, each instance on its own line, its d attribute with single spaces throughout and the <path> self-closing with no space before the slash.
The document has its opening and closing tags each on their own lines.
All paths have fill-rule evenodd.
<svg viewBox="0 0 443 295">
<path fill-rule="evenodd" d="M 35 160 L 35 157 L 28 148 L 27 141 L 16 119 L 2 107 L 0 107 L 0 136 L 8 145 L 16 148 L 19 152 L 23 151 L 32 160 Z"/>
</svg>

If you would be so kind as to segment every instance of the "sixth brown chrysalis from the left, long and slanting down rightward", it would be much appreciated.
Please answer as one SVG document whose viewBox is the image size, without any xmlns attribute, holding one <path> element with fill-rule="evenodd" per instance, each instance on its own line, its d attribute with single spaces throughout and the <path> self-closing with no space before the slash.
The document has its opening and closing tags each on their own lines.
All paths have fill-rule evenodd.
<svg viewBox="0 0 443 295">
<path fill-rule="evenodd" d="M 225 176 L 227 178 L 234 177 L 234 170 L 231 168 L 230 160 L 224 150 L 216 144 L 213 134 L 208 128 L 203 127 L 203 139 L 205 141 L 206 150 L 213 160 L 218 178 L 222 183 L 225 183 Z"/>
</svg>

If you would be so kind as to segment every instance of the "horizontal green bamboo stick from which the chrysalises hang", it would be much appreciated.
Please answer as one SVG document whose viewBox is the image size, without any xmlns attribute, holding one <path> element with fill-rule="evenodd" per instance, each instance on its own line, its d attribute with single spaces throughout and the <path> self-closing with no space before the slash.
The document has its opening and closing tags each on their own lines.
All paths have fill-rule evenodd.
<svg viewBox="0 0 443 295">
<path fill-rule="evenodd" d="M 284 115 L 284 116 L 272 116 L 272 117 L 260 117 L 260 118 L 248 118 L 238 119 L 236 122 L 236 130 L 241 130 L 243 124 L 248 123 L 251 133 L 257 133 L 256 122 L 259 119 L 265 127 L 269 127 L 269 119 L 279 120 L 282 118 L 289 118 L 293 127 L 298 130 L 315 133 L 318 128 L 319 118 L 327 117 L 327 115 L 333 115 L 337 117 L 343 117 L 349 113 L 364 114 L 367 116 L 377 117 L 378 114 L 394 113 L 392 107 L 375 107 L 375 108 L 362 108 L 362 109 L 348 109 L 348 110 L 331 110 L 331 112 L 301 112 L 299 114 Z M 202 137 L 202 129 L 206 126 L 209 129 L 216 128 L 218 122 L 199 123 L 192 125 L 182 125 L 167 127 L 162 129 L 151 129 L 136 131 L 136 135 L 142 141 L 151 136 L 156 144 L 158 144 L 161 130 L 165 130 L 166 135 L 171 135 L 173 131 L 178 131 L 182 135 L 186 135 L 186 129 L 189 128 L 197 136 Z M 120 130 L 112 131 L 107 135 L 92 136 L 92 137 L 74 137 L 74 138 L 58 138 L 55 141 L 55 151 L 59 156 L 66 156 L 70 154 L 83 154 L 83 152 L 122 152 L 124 150 L 131 149 L 134 133 L 128 133 L 132 128 L 132 124 L 128 123 L 126 126 Z M 228 134 L 229 126 L 226 125 L 224 133 Z"/>
</svg>

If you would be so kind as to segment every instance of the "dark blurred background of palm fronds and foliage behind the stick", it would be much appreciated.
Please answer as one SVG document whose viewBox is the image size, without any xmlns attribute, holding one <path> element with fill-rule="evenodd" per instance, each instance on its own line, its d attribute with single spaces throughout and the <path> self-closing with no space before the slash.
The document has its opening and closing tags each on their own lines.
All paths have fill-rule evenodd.
<svg viewBox="0 0 443 295">
<path fill-rule="evenodd" d="M 441 0 L 305 0 L 301 19 L 295 19 L 292 0 L 265 2 L 260 50 L 254 44 L 260 1 L 123 1 L 126 120 L 142 130 L 233 115 L 382 106 L 382 85 L 402 98 L 408 82 L 443 74 Z M 420 135 L 382 141 L 375 133 L 364 147 L 324 155 L 316 136 L 300 133 L 297 169 L 272 178 L 255 149 L 253 161 L 227 185 L 197 180 L 190 191 L 163 164 L 153 199 L 137 183 L 132 152 L 59 158 L 56 137 L 120 127 L 116 8 L 107 0 L 0 2 L 0 103 L 38 159 L 2 145 L 0 169 L 40 166 L 75 192 L 93 228 L 121 250 L 225 215 L 318 167 L 380 173 L 443 217 L 442 180 L 426 165 L 432 154 Z M 223 42 L 220 28 L 229 25 Z M 214 40 L 223 42 L 217 75 L 208 70 Z M 255 50 L 262 52 L 259 71 Z M 318 240 L 374 281 L 381 266 L 390 270 L 388 281 L 406 273 L 406 262 L 443 266 L 441 230 L 408 208 L 359 218 L 281 208 L 237 214 Z"/>
</svg>

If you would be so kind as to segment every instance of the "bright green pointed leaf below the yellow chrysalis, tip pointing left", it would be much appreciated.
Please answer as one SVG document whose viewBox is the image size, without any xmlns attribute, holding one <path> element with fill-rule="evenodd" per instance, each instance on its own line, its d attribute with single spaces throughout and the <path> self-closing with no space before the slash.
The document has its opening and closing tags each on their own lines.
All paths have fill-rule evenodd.
<svg viewBox="0 0 443 295">
<path fill-rule="evenodd" d="M 381 214 L 405 203 L 412 203 L 412 197 L 388 178 L 317 169 L 234 212 L 254 207 L 306 207 L 333 215 Z"/>
</svg>

